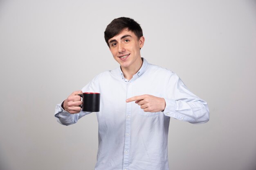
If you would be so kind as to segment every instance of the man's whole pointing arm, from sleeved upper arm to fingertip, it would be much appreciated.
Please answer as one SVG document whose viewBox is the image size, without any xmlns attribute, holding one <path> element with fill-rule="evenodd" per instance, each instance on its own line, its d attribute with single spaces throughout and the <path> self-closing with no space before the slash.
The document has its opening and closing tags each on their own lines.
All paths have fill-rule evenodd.
<svg viewBox="0 0 256 170">
<path fill-rule="evenodd" d="M 170 78 L 167 96 L 159 98 L 152 95 L 141 95 L 128 98 L 126 102 L 135 101 L 145 112 L 163 111 L 166 116 L 193 124 L 209 121 L 209 107 L 207 102 L 195 96 L 184 85 L 178 76 Z"/>
</svg>

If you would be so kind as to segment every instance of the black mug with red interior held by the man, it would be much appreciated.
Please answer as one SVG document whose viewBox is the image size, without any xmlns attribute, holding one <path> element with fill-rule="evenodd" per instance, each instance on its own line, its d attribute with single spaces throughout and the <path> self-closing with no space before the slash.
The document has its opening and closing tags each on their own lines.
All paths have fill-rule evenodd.
<svg viewBox="0 0 256 170">
<path fill-rule="evenodd" d="M 80 105 L 82 111 L 89 111 L 89 112 L 97 112 L 99 111 L 99 104 L 100 104 L 100 93 L 91 93 L 91 92 L 84 92 L 83 94 L 78 94 L 83 98 L 83 104 Z"/>
</svg>

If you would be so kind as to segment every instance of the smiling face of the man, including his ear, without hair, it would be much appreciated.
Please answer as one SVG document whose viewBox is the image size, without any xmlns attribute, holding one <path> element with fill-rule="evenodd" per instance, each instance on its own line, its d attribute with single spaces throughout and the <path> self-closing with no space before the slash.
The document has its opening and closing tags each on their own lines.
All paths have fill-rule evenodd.
<svg viewBox="0 0 256 170">
<path fill-rule="evenodd" d="M 138 37 L 128 29 L 108 40 L 110 51 L 121 68 L 136 69 L 141 63 L 140 48 L 144 45 L 144 37 Z M 139 65 L 140 67 L 141 65 Z"/>
</svg>

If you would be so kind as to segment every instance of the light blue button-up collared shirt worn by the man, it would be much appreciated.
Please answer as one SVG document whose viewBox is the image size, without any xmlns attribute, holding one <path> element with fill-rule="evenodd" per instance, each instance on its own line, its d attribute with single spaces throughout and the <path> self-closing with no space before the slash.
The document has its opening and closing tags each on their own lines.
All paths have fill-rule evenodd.
<svg viewBox="0 0 256 170">
<path fill-rule="evenodd" d="M 117 68 L 99 74 L 82 91 L 101 93 L 100 111 L 96 113 L 99 149 L 95 170 L 169 170 L 170 117 L 193 124 L 209 120 L 204 100 L 191 93 L 177 74 L 146 59 L 130 81 Z M 135 102 L 126 102 L 143 94 L 164 98 L 164 111 L 144 112 Z M 89 113 L 70 114 L 58 104 L 55 117 L 59 123 L 70 125 Z"/>
</svg>

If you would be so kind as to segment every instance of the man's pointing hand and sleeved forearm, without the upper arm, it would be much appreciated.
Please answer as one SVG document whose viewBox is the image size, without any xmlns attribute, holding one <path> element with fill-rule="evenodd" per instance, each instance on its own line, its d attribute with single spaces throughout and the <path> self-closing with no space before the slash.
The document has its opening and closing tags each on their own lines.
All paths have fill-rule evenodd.
<svg viewBox="0 0 256 170">
<path fill-rule="evenodd" d="M 185 102 L 159 98 L 152 95 L 141 95 L 128 98 L 126 102 L 135 101 L 145 112 L 163 111 L 166 116 L 193 124 L 206 123 L 209 121 L 209 108 L 203 100 Z"/>
</svg>

